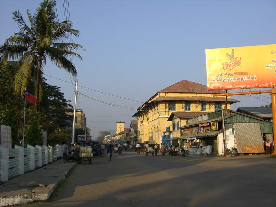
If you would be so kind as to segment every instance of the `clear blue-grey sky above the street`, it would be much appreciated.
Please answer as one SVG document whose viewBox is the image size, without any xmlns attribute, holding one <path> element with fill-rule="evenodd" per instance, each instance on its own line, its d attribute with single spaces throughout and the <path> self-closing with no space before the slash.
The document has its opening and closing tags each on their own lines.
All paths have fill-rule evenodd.
<svg viewBox="0 0 276 207">
<path fill-rule="evenodd" d="M 1 1 L 0 44 L 19 31 L 12 12 L 19 10 L 28 22 L 26 9 L 35 12 L 40 2 Z M 135 120 L 135 109 L 178 81 L 207 85 L 205 49 L 276 43 L 275 0 L 57 0 L 60 22 L 66 18 L 64 2 L 69 4 L 66 8 L 70 10 L 73 28 L 80 30 L 80 36 L 72 40 L 85 48 L 78 51 L 83 61 L 74 59 L 78 85 L 135 100 L 79 86 L 79 93 L 91 98 L 133 107 L 130 110 L 110 106 L 79 94 L 77 108 L 85 112 L 93 137 L 101 130 L 115 130 L 117 121 L 124 121 L 129 127 L 130 120 Z M 49 60 L 43 72 L 47 83 L 61 87 L 64 97 L 73 104 L 72 84 L 46 76 L 71 82 L 70 75 Z M 254 96 L 232 96 L 241 102 L 231 109 L 271 102 L 269 94 Z"/>
</svg>

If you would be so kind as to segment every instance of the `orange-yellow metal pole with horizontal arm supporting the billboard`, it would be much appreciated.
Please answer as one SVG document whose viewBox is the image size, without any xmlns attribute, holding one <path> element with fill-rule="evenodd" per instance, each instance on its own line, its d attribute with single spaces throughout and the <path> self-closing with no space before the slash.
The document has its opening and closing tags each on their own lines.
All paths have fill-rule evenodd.
<svg viewBox="0 0 276 207">
<path fill-rule="evenodd" d="M 272 120 L 273 120 L 273 139 L 274 144 L 276 143 L 276 89 L 272 88 L 271 90 L 259 90 L 259 91 L 245 91 L 245 92 L 238 92 L 238 93 L 219 93 L 213 94 L 213 96 L 235 96 L 235 95 L 251 95 L 251 94 L 261 94 L 261 93 L 270 93 L 271 96 L 271 105 L 272 105 Z M 272 155 L 276 155 L 276 150 Z"/>
</svg>

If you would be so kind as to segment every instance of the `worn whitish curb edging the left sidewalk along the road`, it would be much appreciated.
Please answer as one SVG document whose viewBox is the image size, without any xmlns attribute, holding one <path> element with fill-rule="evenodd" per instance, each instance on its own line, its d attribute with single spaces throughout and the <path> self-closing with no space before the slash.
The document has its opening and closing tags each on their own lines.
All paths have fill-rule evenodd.
<svg viewBox="0 0 276 207">
<path fill-rule="evenodd" d="M 75 163 L 74 165 L 72 165 L 72 167 L 70 167 L 70 169 L 65 171 L 64 174 L 60 176 L 57 183 L 55 183 L 49 188 L 48 192 L 16 195 L 16 196 L 10 196 L 8 198 L 3 197 L 3 198 L 0 198 L 0 206 L 12 206 L 16 204 L 47 200 L 48 198 L 50 198 L 50 196 L 52 195 L 54 190 L 58 187 L 58 185 L 66 178 L 66 175 L 70 172 L 70 170 L 72 170 L 76 166 L 76 164 L 77 163 Z"/>
</svg>

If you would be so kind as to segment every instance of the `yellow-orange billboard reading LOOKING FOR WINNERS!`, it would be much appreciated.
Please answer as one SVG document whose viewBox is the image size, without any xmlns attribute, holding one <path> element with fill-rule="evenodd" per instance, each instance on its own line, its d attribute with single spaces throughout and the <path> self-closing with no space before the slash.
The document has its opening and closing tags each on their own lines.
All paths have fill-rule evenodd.
<svg viewBox="0 0 276 207">
<path fill-rule="evenodd" d="M 208 90 L 276 87 L 276 44 L 206 49 Z"/>
</svg>

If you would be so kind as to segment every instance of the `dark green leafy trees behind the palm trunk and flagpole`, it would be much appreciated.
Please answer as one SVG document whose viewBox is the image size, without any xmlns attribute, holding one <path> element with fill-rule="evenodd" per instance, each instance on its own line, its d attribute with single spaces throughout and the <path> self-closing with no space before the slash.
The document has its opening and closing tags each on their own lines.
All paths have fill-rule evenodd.
<svg viewBox="0 0 276 207">
<path fill-rule="evenodd" d="M 20 94 L 13 93 L 13 80 L 16 71 L 19 68 L 17 62 L 8 61 L 7 68 L 9 70 L 0 73 L 0 124 L 12 127 L 12 144 L 20 145 L 23 138 L 23 116 L 24 116 L 24 101 Z M 38 122 L 40 129 L 47 131 L 48 137 L 52 133 L 56 133 L 60 125 L 70 127 L 73 116 L 68 115 L 68 107 L 72 107 L 70 101 L 63 97 L 60 88 L 57 86 L 48 85 L 43 79 L 43 98 L 41 102 L 41 109 L 34 111 L 34 105 L 26 101 L 26 120 L 25 120 L 25 135 L 28 130 L 33 130 L 33 120 Z M 29 87 L 27 90 L 33 93 L 34 88 Z M 70 133 L 70 132 L 68 132 Z M 30 134 L 28 135 L 28 138 Z M 66 137 L 66 136 L 65 136 Z M 71 133 L 70 133 L 71 137 Z M 27 137 L 26 137 L 27 138 Z M 31 137 L 32 143 L 38 144 L 40 136 Z"/>
</svg>

